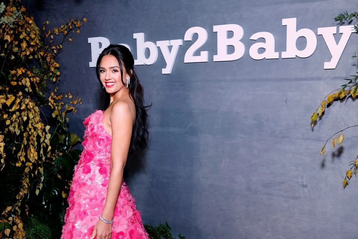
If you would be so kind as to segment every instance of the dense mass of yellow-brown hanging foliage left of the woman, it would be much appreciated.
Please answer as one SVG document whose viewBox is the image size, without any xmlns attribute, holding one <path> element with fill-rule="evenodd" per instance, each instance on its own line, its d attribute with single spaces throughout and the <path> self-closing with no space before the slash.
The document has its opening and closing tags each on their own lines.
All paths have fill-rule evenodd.
<svg viewBox="0 0 358 239">
<path fill-rule="evenodd" d="M 67 132 L 66 114 L 82 102 L 58 93 L 55 58 L 82 22 L 86 19 L 71 19 L 51 31 L 46 21 L 39 29 L 19 0 L 0 4 L 0 192 L 6 195 L 0 203 L 0 238 L 24 238 L 23 218 L 55 205 L 49 200 L 57 198 L 54 194 L 66 203 L 69 167 L 80 153 L 72 150 L 79 138 Z M 62 41 L 54 44 L 59 37 Z M 55 186 L 61 178 L 63 187 Z M 38 225 L 28 221 L 30 227 Z"/>
</svg>

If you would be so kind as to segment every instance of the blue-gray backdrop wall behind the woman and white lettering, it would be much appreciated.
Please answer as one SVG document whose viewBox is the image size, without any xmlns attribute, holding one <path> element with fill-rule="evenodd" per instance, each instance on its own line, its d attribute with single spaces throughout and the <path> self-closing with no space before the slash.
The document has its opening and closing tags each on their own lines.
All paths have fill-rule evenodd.
<svg viewBox="0 0 358 239">
<path fill-rule="evenodd" d="M 103 109 L 95 69 L 89 67 L 88 38 L 126 43 L 136 59 L 134 33 L 145 33 L 145 41 L 154 43 L 184 39 L 191 27 L 208 33 L 195 53 L 208 51 L 208 62 L 184 63 L 198 38 L 194 35 L 179 47 L 171 74 L 161 74 L 166 64 L 159 47 L 153 65 L 135 66 L 145 100 L 153 103 L 152 150 L 141 160 L 130 160 L 126 177 L 144 223 L 168 220 L 174 234 L 193 239 L 357 238 L 358 182 L 354 178 L 345 190 L 341 186 L 348 162 L 357 155 L 357 130 L 347 131 L 342 154 L 320 156 L 328 137 L 354 124 L 357 103 L 335 102 L 313 131 L 309 122 L 324 96 L 357 71 L 351 57 L 355 34 L 335 69 L 324 69 L 331 55 L 317 34 L 318 28 L 339 26 L 336 14 L 357 10 L 353 1 L 47 2 L 54 6 L 40 1 L 35 12 L 40 25 L 45 17 L 55 26 L 88 11 L 81 33 L 58 58 L 61 91 L 77 93 L 84 102 L 70 119 L 70 130 L 81 136 L 84 118 Z M 34 8 L 31 1 L 24 3 Z M 311 56 L 282 58 L 287 29 L 282 19 L 288 18 L 296 18 L 297 31 L 314 32 L 317 46 Z M 245 53 L 238 60 L 214 62 L 218 43 L 213 26 L 223 24 L 242 27 Z M 277 59 L 250 57 L 251 45 L 265 42 L 250 40 L 257 32 L 272 33 Z M 335 35 L 337 42 L 341 36 Z M 303 50 L 305 39 L 296 45 Z M 228 53 L 233 51 L 228 47 Z"/>
</svg>

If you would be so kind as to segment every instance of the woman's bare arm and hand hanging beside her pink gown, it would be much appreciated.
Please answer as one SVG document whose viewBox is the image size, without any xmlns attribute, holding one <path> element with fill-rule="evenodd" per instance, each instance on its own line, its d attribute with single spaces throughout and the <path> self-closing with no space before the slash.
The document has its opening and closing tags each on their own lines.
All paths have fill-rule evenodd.
<svg viewBox="0 0 358 239">
<path fill-rule="evenodd" d="M 103 219 L 108 221 L 113 219 L 132 136 L 134 118 L 129 104 L 123 101 L 114 104 L 110 114 L 110 121 L 112 128 L 110 178 L 105 207 L 102 212 Z M 111 224 L 106 224 L 99 220 L 93 229 L 91 238 L 95 238 L 96 235 L 97 238 L 111 238 L 111 228 Z"/>
</svg>

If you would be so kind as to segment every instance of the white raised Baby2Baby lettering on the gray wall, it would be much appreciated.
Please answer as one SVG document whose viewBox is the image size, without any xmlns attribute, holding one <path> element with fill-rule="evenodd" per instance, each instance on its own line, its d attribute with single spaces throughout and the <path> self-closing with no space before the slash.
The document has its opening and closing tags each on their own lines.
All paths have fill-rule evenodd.
<svg viewBox="0 0 358 239">
<path fill-rule="evenodd" d="M 297 30 L 296 18 L 282 19 L 282 26 L 286 26 L 286 51 L 281 52 L 281 58 L 301 58 L 309 57 L 316 50 L 317 37 L 316 33 L 311 29 L 302 28 Z M 337 27 L 320 27 L 317 29 L 317 35 L 322 35 L 329 52 L 332 57 L 324 62 L 324 69 L 335 69 L 343 50 L 347 45 L 348 39 L 352 32 L 355 32 L 353 25 L 338 27 L 341 35 L 338 43 L 334 39 L 334 34 L 337 34 Z M 246 46 L 241 42 L 244 36 L 244 29 L 237 24 L 214 25 L 213 32 L 217 35 L 217 52 L 213 55 L 213 61 L 235 61 L 240 59 L 244 53 Z M 228 38 L 228 32 L 231 32 L 232 37 Z M 198 39 L 193 40 L 194 34 L 198 34 Z M 296 47 L 297 38 L 304 37 L 306 39 L 306 47 L 303 50 L 298 50 Z M 156 43 L 145 41 L 144 33 L 134 33 L 133 38 L 136 39 L 137 59 L 134 61 L 135 65 L 152 65 L 158 59 L 159 51 L 161 52 L 166 62 L 165 68 L 162 69 L 162 74 L 170 74 L 176 60 L 176 55 L 183 45 L 183 39 L 173 39 L 157 41 Z M 250 40 L 257 41 L 262 38 L 264 42 L 253 43 L 249 48 L 249 55 L 255 60 L 262 59 L 279 59 L 279 53 L 275 51 L 275 37 L 270 32 L 257 32 L 250 37 Z M 205 51 L 203 47 L 208 39 L 208 32 L 202 27 L 189 28 L 184 34 L 184 41 L 192 41 L 192 45 L 188 48 L 184 55 L 184 63 L 193 62 L 208 62 L 209 52 Z M 101 51 L 106 48 L 110 41 L 105 37 L 91 37 L 88 38 L 88 43 L 91 44 L 92 60 L 89 62 L 89 67 L 96 67 L 96 61 Z M 101 43 L 101 46 L 100 46 Z M 130 49 L 128 44 L 122 43 Z M 171 46 L 171 50 L 169 50 Z M 228 53 L 228 46 L 233 48 L 232 53 Z M 159 49 L 158 49 L 159 47 Z M 262 50 L 259 53 L 259 49 Z M 146 49 L 149 50 L 149 55 L 145 55 Z"/>
</svg>

